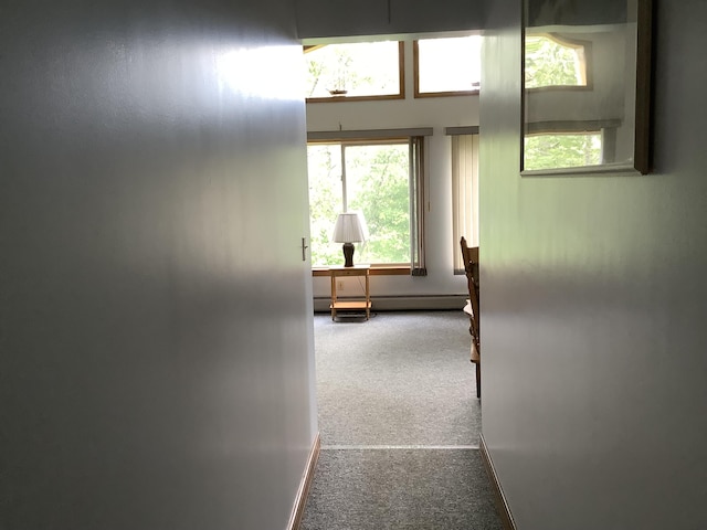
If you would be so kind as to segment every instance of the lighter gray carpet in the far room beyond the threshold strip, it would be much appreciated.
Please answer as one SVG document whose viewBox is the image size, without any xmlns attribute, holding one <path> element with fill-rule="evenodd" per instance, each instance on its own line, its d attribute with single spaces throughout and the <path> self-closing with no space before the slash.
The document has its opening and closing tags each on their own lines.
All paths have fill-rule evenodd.
<svg viewBox="0 0 707 530">
<path fill-rule="evenodd" d="M 461 310 L 315 316 L 321 444 L 476 446 L 469 341 Z"/>
</svg>

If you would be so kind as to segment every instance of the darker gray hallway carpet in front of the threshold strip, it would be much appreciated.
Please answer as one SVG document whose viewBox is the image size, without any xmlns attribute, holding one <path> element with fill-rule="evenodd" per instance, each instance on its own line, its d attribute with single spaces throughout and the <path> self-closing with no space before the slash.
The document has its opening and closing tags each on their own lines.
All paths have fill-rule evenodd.
<svg viewBox="0 0 707 530">
<path fill-rule="evenodd" d="M 323 451 L 302 530 L 503 530 L 478 451 Z"/>
</svg>

